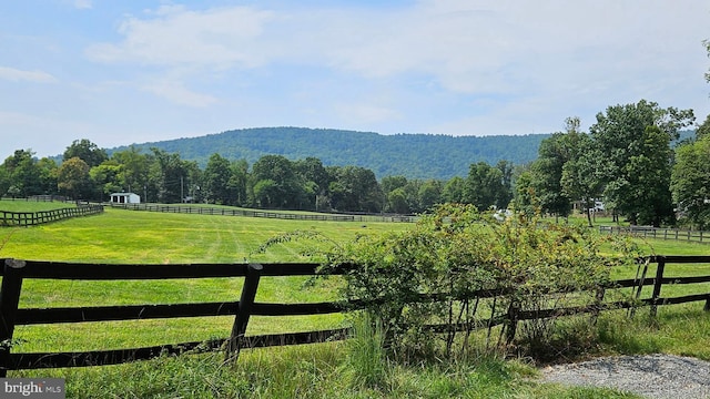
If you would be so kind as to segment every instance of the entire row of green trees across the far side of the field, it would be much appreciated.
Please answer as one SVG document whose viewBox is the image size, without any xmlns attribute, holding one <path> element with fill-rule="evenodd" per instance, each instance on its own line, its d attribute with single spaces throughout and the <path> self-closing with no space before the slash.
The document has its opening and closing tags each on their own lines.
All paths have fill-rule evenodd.
<svg viewBox="0 0 710 399">
<path fill-rule="evenodd" d="M 0 165 L 0 195 L 59 194 L 108 201 L 133 192 L 143 202 L 197 202 L 268 209 L 417 214 L 444 203 L 479 209 L 516 209 L 568 216 L 575 204 L 590 211 L 597 201 L 631 224 L 692 227 L 710 225 L 710 115 L 696 136 L 692 110 L 638 103 L 607 108 L 589 132 L 578 117 L 545 139 L 536 161 L 514 165 L 473 163 L 468 175 L 449 180 L 377 180 L 362 166 L 325 166 L 316 157 L 292 161 L 264 155 L 253 164 L 219 153 L 205 167 L 152 147 L 130 146 L 108 155 L 89 140 L 67 147 L 62 162 L 17 150 Z M 680 221 L 678 219 L 680 216 Z"/>
</svg>

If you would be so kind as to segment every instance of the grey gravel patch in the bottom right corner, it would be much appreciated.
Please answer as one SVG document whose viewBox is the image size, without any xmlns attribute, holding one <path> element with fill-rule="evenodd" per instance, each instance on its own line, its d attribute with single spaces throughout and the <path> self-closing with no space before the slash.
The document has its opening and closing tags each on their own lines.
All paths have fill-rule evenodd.
<svg viewBox="0 0 710 399">
<path fill-rule="evenodd" d="M 550 366 L 540 372 L 548 382 L 616 388 L 646 398 L 710 398 L 710 362 L 689 357 L 606 357 Z"/>
</svg>

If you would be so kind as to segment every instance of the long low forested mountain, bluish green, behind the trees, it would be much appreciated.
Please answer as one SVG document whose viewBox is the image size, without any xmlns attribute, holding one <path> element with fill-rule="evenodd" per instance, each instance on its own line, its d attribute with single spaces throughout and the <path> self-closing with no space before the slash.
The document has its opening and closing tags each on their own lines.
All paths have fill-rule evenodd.
<svg viewBox="0 0 710 399">
<path fill-rule="evenodd" d="M 308 156 L 324 165 L 355 165 L 372 170 L 377 178 L 404 175 L 408 178 L 450 178 L 466 176 L 470 164 L 495 165 L 505 160 L 525 164 L 537 157 L 540 142 L 548 134 L 519 136 L 448 136 L 395 134 L 304 127 L 258 127 L 233 130 L 201 137 L 135 144 L 149 152 L 158 147 L 179 153 L 183 160 L 204 166 L 217 153 L 229 160 L 244 158 L 250 164 L 263 155 L 283 155 L 290 160 Z M 125 147 L 109 150 L 125 150 Z"/>
</svg>

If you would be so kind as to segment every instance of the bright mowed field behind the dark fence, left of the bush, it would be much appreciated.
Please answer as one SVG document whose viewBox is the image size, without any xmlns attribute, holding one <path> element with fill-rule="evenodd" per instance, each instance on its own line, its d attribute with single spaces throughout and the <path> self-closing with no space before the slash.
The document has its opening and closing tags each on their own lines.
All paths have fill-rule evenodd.
<svg viewBox="0 0 710 399">
<path fill-rule="evenodd" d="M 4 203 L 4 202 L 3 202 Z M 150 213 L 106 208 L 103 215 L 34 227 L 0 228 L 0 257 L 97 264 L 194 264 L 313 262 L 303 250 L 315 241 L 260 246 L 280 234 L 317 231 L 325 242 L 358 234 L 410 228 L 410 224 L 312 222 Z M 110 266 L 97 266 L 110 267 Z M 337 297 L 337 278 L 307 284 L 307 277 L 263 277 L 256 300 L 308 303 Z M 20 307 L 174 304 L 239 300 L 243 278 L 173 280 L 26 280 Z M 334 328 L 342 315 L 253 317 L 247 334 Z M 16 351 L 124 348 L 222 338 L 233 317 L 20 326 Z"/>
</svg>

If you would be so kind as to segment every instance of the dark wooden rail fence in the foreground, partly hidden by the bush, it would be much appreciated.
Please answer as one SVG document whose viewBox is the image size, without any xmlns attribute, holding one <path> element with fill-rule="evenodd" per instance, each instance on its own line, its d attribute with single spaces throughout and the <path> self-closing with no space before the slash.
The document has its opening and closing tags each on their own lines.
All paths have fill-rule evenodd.
<svg viewBox="0 0 710 399">
<path fill-rule="evenodd" d="M 201 352 L 227 349 L 227 356 L 239 355 L 240 348 L 285 346 L 344 339 L 347 329 L 328 329 L 304 332 L 245 336 L 251 316 L 323 315 L 344 311 L 336 303 L 266 304 L 254 303 L 262 277 L 313 276 L 317 264 L 192 264 L 192 265 L 94 265 L 74 263 L 32 262 L 2 259 L 2 285 L 0 286 L 0 377 L 8 370 L 85 367 L 115 365 L 133 360 L 155 358 L 162 354 Z M 658 264 L 656 275 L 647 276 L 650 263 Z M 668 284 L 700 284 L 710 282 L 710 276 L 668 277 L 668 264 L 710 264 L 710 256 L 656 256 L 647 258 L 642 273 L 632 279 L 613 282 L 610 288 L 632 288 L 635 301 L 597 304 L 549 310 L 518 309 L 504 317 L 491 317 L 476 325 L 490 327 L 505 324 L 513 326 L 521 320 L 600 311 L 605 309 L 629 308 L 649 305 L 651 314 L 661 305 L 706 301 L 709 309 L 710 289 L 698 295 L 663 297 L 661 288 Z M 355 266 L 349 266 L 355 267 Z M 97 307 L 24 308 L 20 306 L 22 282 L 26 279 L 70 279 L 70 280 L 124 280 L 124 279 L 169 279 L 169 278 L 245 278 L 239 301 L 200 304 L 158 304 Z M 652 286 L 650 297 L 642 297 L 641 290 Z M 495 290 L 474 293 L 474 297 L 494 297 Z M 161 319 L 176 317 L 234 316 L 232 332 L 226 338 L 207 341 L 169 344 L 152 347 L 93 350 L 82 352 L 12 352 L 13 332 L 19 325 L 47 325 L 57 323 L 88 323 L 138 319 Z M 463 326 L 429 326 L 435 330 L 450 331 Z M 467 326 L 466 328 L 470 328 Z"/>
</svg>

